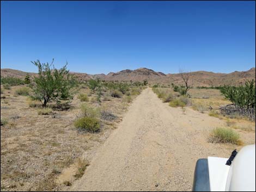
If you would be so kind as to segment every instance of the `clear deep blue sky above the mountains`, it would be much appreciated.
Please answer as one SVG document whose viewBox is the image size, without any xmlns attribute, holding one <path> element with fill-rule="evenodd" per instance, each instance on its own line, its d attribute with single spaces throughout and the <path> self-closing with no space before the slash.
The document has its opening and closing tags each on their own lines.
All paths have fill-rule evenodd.
<svg viewBox="0 0 256 192">
<path fill-rule="evenodd" d="M 32 60 L 108 73 L 246 71 L 255 66 L 254 1 L 1 1 L 1 68 Z"/>
</svg>

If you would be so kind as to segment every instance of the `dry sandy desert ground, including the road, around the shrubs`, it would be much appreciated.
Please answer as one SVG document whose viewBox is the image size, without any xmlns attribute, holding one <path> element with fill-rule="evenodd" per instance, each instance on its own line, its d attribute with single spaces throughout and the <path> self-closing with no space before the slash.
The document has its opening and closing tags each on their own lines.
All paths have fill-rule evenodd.
<svg viewBox="0 0 256 192">
<path fill-rule="evenodd" d="M 102 119 L 99 133 L 83 133 L 74 127 L 84 103 L 78 94 L 70 109 L 39 115 L 28 96 L 15 94 L 20 86 L 1 94 L 1 123 L 8 119 L 1 125 L 2 191 L 191 190 L 197 159 L 255 144 L 255 121 L 197 110 L 229 103 L 216 89 L 191 89 L 192 105 L 174 108 L 149 87 L 132 102 L 111 97 L 99 106 L 85 87 L 86 103 L 114 118 Z M 242 143 L 210 143 L 216 127 L 233 129 Z"/>
</svg>

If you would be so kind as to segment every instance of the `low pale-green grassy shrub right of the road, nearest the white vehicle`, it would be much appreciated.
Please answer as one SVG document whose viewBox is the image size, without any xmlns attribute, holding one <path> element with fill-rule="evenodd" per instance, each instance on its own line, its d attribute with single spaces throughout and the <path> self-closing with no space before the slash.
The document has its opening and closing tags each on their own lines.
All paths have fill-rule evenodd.
<svg viewBox="0 0 256 192">
<path fill-rule="evenodd" d="M 240 145 L 240 135 L 233 129 L 218 127 L 210 132 L 209 141 L 211 143 L 230 143 Z"/>
</svg>

